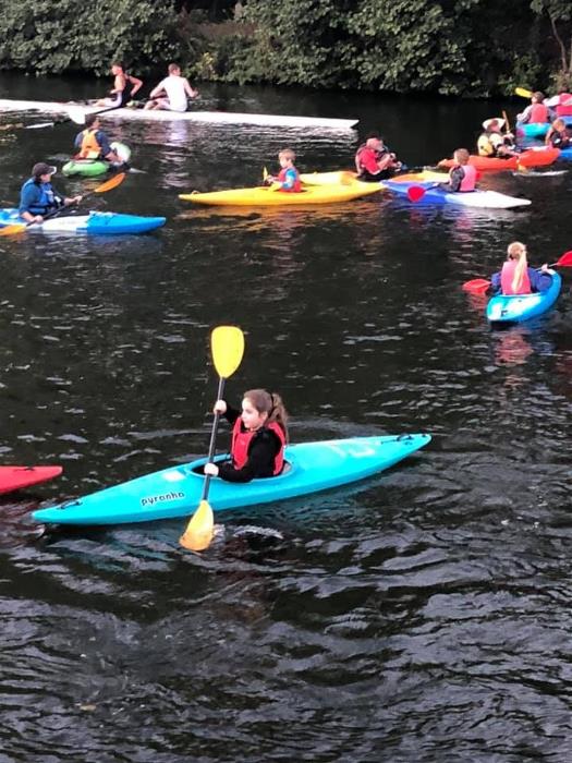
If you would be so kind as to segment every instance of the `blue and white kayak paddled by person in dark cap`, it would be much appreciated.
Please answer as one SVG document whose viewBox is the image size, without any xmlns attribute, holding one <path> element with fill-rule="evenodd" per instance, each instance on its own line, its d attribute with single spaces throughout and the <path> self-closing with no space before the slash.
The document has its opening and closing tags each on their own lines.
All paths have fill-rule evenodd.
<svg viewBox="0 0 572 763">
<path fill-rule="evenodd" d="M 17 209 L 0 209 L 0 228 L 23 222 Z M 26 228 L 26 231 L 44 233 L 94 233 L 119 235 L 123 233 L 148 233 L 165 226 L 166 217 L 139 217 L 118 215 L 113 211 L 90 211 L 88 215 L 62 215 Z"/>
</svg>

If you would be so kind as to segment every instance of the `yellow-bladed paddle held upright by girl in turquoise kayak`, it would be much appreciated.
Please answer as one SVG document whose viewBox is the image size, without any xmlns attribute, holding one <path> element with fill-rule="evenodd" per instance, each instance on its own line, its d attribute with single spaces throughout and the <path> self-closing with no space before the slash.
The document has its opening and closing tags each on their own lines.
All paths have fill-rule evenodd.
<svg viewBox="0 0 572 763">
<path fill-rule="evenodd" d="M 217 326 L 210 335 L 210 348 L 212 362 L 219 375 L 219 388 L 217 400 L 222 399 L 224 382 L 240 366 L 244 354 L 244 335 L 238 326 Z M 217 441 L 217 429 L 220 421 L 220 413 L 215 413 L 212 429 L 210 432 L 210 444 L 208 446 L 208 463 L 215 457 L 215 446 Z M 205 475 L 203 495 L 197 510 L 191 518 L 186 530 L 181 535 L 179 543 L 188 550 L 202 552 L 208 548 L 215 532 L 215 517 L 208 502 L 208 488 L 210 486 L 210 475 Z"/>
</svg>

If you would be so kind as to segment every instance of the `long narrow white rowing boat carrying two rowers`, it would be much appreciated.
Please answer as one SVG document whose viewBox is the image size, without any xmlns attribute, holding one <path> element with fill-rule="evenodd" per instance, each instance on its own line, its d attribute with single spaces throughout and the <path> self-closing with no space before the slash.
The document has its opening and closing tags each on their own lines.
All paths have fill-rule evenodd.
<svg viewBox="0 0 572 763">
<path fill-rule="evenodd" d="M 42 100 L 11 100 L 0 98 L 0 111 L 40 111 L 41 113 L 66 113 L 70 108 L 83 109 L 88 114 L 105 111 L 105 107 L 81 106 L 77 104 L 58 104 Z M 232 111 L 145 111 L 145 109 L 111 109 L 107 117 L 119 119 L 143 119 L 158 122 L 187 121 L 210 122 L 219 124 L 258 124 L 276 128 L 324 128 L 328 130 L 349 130 L 357 124 L 356 119 L 328 119 L 326 117 L 289 117 L 284 114 L 252 114 Z"/>
</svg>

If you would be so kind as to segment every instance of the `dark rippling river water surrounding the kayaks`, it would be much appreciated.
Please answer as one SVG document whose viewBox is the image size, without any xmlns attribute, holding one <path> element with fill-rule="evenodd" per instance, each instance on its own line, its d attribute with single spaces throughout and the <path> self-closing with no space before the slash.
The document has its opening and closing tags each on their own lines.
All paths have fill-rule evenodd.
<svg viewBox="0 0 572 763">
<path fill-rule="evenodd" d="M 94 89 L 0 78 L 0 97 Z M 483 178 L 533 201 L 516 211 L 387 195 L 190 208 L 178 193 L 256 184 L 285 145 L 302 170 L 351 167 L 377 128 L 428 165 L 522 105 L 202 92 L 205 109 L 361 122 L 109 120 L 139 171 L 92 208 L 166 228 L 0 239 L 1 460 L 64 465 L 0 502 L 0 762 L 569 761 L 570 277 L 551 314 L 507 331 L 461 284 L 514 239 L 538 265 L 571 247 L 570 174 Z M 0 132 L 3 205 L 75 131 Z M 246 337 L 228 398 L 279 390 L 292 440 L 433 441 L 352 488 L 219 513 L 202 555 L 179 546 L 180 521 L 41 534 L 38 506 L 205 453 L 208 335 L 228 322 Z"/>
</svg>

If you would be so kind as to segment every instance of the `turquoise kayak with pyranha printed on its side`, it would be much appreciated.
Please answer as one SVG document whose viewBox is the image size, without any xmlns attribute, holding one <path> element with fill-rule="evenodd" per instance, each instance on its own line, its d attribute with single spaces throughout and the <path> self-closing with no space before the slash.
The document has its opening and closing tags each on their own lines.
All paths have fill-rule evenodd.
<svg viewBox="0 0 572 763">
<path fill-rule="evenodd" d="M 247 483 L 210 482 L 208 501 L 215 510 L 296 498 L 364 480 L 423 448 L 430 435 L 353 437 L 302 443 L 285 448 L 284 471 Z M 217 457 L 217 461 L 228 458 Z M 184 518 L 198 506 L 204 475 L 196 472 L 206 459 L 131 480 L 77 500 L 33 512 L 47 524 L 122 524 Z"/>
</svg>

